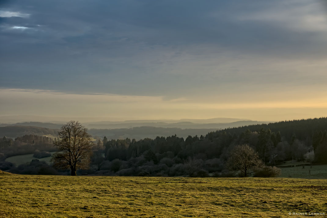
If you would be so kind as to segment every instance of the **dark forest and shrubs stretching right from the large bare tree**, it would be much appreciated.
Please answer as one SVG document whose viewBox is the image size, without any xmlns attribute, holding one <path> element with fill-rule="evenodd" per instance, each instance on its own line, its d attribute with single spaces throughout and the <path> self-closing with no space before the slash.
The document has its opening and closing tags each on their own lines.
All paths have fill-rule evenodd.
<svg viewBox="0 0 327 218">
<path fill-rule="evenodd" d="M 238 156 L 231 161 L 233 156 L 245 157 L 244 155 L 249 156 L 250 153 L 251 169 L 238 169 L 244 176 L 247 176 L 248 170 L 252 174 L 263 168 L 269 174 L 276 171 L 276 168 L 267 166 L 281 164 L 287 160 L 324 163 L 323 157 L 327 154 L 326 130 L 317 129 L 307 131 L 305 135 L 301 134 L 303 127 L 310 129 L 308 123 L 314 124 L 321 120 L 326 124 L 326 118 L 286 121 L 249 126 L 244 132 L 239 131 L 244 127 L 228 128 L 209 132 L 205 136 L 188 136 L 186 139 L 177 135 L 138 141 L 129 138 L 108 140 L 104 137 L 92 147 L 91 169 L 88 172 L 125 176 L 229 176 L 237 165 L 235 160 L 240 159 Z M 285 125 L 286 129 L 292 126 L 297 128 L 294 128 L 291 134 L 288 130 L 286 136 L 281 131 L 273 132 L 264 128 L 276 128 L 275 125 Z M 259 129 L 251 131 L 253 128 Z M 301 137 L 297 137 L 297 134 Z M 241 145 L 246 149 L 241 149 Z M 237 154 L 235 149 L 242 150 L 243 154 Z M 248 154 L 245 154 L 245 151 L 248 151 Z"/>
</svg>

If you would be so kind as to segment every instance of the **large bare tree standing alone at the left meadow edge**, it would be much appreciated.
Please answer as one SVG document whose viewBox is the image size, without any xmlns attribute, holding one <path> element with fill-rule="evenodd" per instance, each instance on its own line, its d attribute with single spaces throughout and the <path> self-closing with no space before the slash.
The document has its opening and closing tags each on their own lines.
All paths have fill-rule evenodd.
<svg viewBox="0 0 327 218">
<path fill-rule="evenodd" d="M 60 130 L 59 139 L 54 143 L 58 152 L 53 154 L 51 161 L 55 168 L 70 168 L 71 175 L 76 176 L 77 169 L 89 167 L 93 146 L 91 135 L 78 121 L 69 121 Z"/>
</svg>

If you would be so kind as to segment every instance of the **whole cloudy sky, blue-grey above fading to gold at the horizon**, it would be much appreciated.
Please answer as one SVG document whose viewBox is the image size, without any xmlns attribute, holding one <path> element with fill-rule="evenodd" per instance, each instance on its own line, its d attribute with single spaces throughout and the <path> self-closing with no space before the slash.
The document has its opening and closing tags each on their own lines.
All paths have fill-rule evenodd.
<svg viewBox="0 0 327 218">
<path fill-rule="evenodd" d="M 325 3 L 2 0 L 0 114 L 326 117 Z"/>
</svg>

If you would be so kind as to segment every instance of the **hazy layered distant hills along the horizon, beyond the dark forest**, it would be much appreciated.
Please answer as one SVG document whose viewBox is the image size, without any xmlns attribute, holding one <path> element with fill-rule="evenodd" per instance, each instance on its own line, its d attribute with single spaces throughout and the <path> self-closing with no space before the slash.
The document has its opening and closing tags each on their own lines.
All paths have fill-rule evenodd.
<svg viewBox="0 0 327 218">
<path fill-rule="evenodd" d="M 231 118 L 214 118 L 215 119 L 231 119 Z M 192 119 L 190 119 L 192 120 Z M 197 120 L 197 122 L 205 120 Z M 108 123 L 109 122 L 109 123 Z M 112 139 L 118 138 L 155 138 L 157 136 L 178 135 L 179 137 L 187 137 L 188 135 L 205 135 L 208 132 L 225 129 L 242 127 L 247 125 L 267 124 L 263 121 L 240 120 L 232 123 L 194 123 L 191 121 L 182 121 L 176 123 L 166 122 L 95 122 L 83 124 L 89 128 L 89 132 L 93 136 L 107 136 Z M 0 136 L 15 138 L 26 134 L 33 135 L 57 135 L 62 124 L 43 123 L 43 122 L 23 122 L 0 127 Z"/>
</svg>

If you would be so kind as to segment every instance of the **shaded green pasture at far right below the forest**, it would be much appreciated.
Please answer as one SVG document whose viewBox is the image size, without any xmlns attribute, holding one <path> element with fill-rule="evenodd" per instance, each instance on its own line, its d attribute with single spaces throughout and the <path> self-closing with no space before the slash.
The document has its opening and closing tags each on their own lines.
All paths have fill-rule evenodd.
<svg viewBox="0 0 327 218">
<path fill-rule="evenodd" d="M 327 165 L 296 166 L 281 168 L 283 178 L 324 179 L 327 178 Z M 309 172 L 310 170 L 310 172 Z"/>
</svg>

